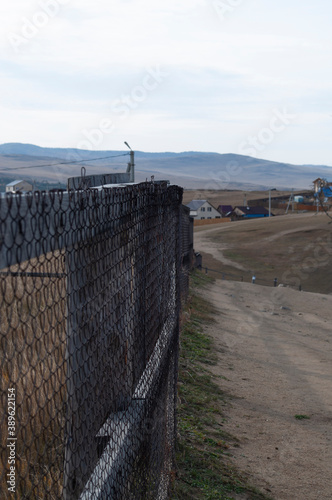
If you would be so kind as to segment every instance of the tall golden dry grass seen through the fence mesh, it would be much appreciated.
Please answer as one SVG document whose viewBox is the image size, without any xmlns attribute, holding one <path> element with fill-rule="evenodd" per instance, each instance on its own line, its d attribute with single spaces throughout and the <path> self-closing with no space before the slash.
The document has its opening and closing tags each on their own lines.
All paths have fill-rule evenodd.
<svg viewBox="0 0 332 500">
<path fill-rule="evenodd" d="M 63 256 L 58 252 L 24 263 L 20 269 L 13 266 L 10 271 L 60 273 L 63 268 Z M 58 498 L 65 417 L 64 279 L 1 276 L 0 315 L 1 498 L 8 497 L 9 388 L 16 393 L 17 498 Z"/>
</svg>

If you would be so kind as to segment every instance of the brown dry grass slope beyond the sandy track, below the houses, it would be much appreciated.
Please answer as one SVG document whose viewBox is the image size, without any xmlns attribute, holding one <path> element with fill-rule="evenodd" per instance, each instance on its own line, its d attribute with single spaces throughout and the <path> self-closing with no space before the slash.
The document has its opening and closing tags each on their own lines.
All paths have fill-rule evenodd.
<svg viewBox="0 0 332 500">
<path fill-rule="evenodd" d="M 264 220 L 232 222 L 207 234 L 208 241 L 220 247 L 230 261 L 244 270 L 224 265 L 208 252 L 204 244 L 203 266 L 233 273 L 250 281 L 255 273 L 271 285 L 290 283 L 303 290 L 332 293 L 332 233 L 325 214 L 301 214 Z M 200 234 L 204 228 L 198 228 Z M 195 244 L 195 250 L 201 251 Z M 215 273 L 214 277 L 221 278 Z M 259 283 L 259 281 L 257 281 Z"/>
</svg>

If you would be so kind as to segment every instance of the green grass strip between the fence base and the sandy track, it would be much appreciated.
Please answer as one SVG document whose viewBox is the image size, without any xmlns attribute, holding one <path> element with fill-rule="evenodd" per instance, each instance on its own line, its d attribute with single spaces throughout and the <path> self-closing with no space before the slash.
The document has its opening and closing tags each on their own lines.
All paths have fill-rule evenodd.
<svg viewBox="0 0 332 500">
<path fill-rule="evenodd" d="M 211 282 L 200 273 L 191 279 L 189 300 L 183 311 L 178 388 L 177 473 L 172 499 L 246 498 L 268 500 L 247 483 L 246 475 L 230 460 L 237 439 L 223 431 L 226 396 L 208 366 L 216 364 L 213 340 L 204 326 L 214 321 L 214 309 L 196 290 Z M 241 495 L 243 494 L 243 496 Z"/>
</svg>

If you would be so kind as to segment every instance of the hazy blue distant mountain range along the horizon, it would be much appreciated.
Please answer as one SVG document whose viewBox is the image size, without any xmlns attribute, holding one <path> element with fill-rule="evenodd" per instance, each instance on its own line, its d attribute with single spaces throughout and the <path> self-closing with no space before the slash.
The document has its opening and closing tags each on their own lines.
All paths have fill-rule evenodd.
<svg viewBox="0 0 332 500">
<path fill-rule="evenodd" d="M 87 175 L 125 171 L 128 153 L 2 144 L 0 176 L 63 185 L 68 177 L 81 175 L 82 166 Z M 59 164 L 63 162 L 71 163 Z M 136 181 L 150 180 L 154 175 L 156 180 L 166 179 L 195 189 L 309 189 L 317 177 L 332 179 L 332 168 L 326 165 L 292 165 L 236 154 L 135 151 L 135 164 Z"/>
</svg>

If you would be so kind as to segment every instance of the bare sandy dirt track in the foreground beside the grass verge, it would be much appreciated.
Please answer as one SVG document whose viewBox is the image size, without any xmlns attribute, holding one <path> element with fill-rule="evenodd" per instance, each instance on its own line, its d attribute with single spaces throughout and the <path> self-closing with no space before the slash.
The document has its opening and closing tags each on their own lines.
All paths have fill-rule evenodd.
<svg viewBox="0 0 332 500">
<path fill-rule="evenodd" d="M 332 296 L 229 281 L 202 293 L 235 463 L 276 500 L 331 500 Z"/>
</svg>

